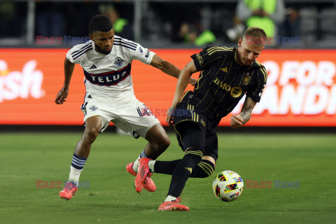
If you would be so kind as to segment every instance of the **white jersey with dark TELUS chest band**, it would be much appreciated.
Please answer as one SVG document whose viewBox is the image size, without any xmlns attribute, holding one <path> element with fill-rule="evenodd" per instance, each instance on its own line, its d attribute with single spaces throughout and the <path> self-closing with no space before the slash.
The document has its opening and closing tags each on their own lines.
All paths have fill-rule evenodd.
<svg viewBox="0 0 336 224">
<path fill-rule="evenodd" d="M 97 52 L 94 42 L 87 41 L 73 46 L 66 58 L 83 68 L 87 93 L 109 99 L 113 104 L 124 104 L 136 99 L 131 77 L 132 60 L 151 64 L 154 55 L 138 43 L 115 35 L 109 55 Z"/>
</svg>

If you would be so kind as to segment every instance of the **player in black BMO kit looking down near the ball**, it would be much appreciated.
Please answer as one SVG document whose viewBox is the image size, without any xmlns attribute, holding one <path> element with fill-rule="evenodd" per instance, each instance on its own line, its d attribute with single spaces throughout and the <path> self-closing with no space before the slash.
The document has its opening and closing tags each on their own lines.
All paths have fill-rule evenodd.
<svg viewBox="0 0 336 224">
<path fill-rule="evenodd" d="M 179 204 L 186 181 L 189 177 L 204 178 L 214 173 L 218 158 L 215 128 L 244 94 L 241 113 L 231 117 L 231 126 L 237 128 L 250 120 L 267 81 L 265 67 L 255 60 L 265 48 L 266 38 L 263 29 L 250 27 L 239 39 L 239 48 L 208 46 L 192 55 L 193 60 L 181 71 L 169 109 L 174 113 L 168 114 L 167 123 L 174 125 L 185 155 L 181 160 L 168 162 L 140 159 L 138 175 L 147 172 L 172 175 L 167 198 L 159 210 L 189 210 Z M 201 73 L 195 89 L 183 94 L 190 76 L 197 71 Z"/>
</svg>

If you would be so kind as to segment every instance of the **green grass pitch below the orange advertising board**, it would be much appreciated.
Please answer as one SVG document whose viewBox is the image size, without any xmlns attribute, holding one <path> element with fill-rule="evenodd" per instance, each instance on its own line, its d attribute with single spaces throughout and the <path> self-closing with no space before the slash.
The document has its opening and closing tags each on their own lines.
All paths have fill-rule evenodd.
<svg viewBox="0 0 336 224">
<path fill-rule="evenodd" d="M 218 134 L 215 173 L 189 179 L 181 195 L 188 212 L 158 211 L 171 176 L 154 174 L 155 193 L 135 192 L 125 165 L 146 140 L 124 135 L 103 133 L 94 142 L 80 177 L 90 188 L 70 201 L 59 199 L 57 186 L 36 188 L 36 180 L 67 179 L 80 136 L 0 134 L 0 223 L 335 223 L 335 135 Z M 183 156 L 174 134 L 169 137 L 160 160 Z M 226 169 L 245 182 L 235 202 L 222 202 L 212 191 L 214 177 Z M 272 181 L 272 188 L 246 188 L 247 180 Z M 299 187 L 274 188 L 274 180 L 299 181 Z"/>
</svg>

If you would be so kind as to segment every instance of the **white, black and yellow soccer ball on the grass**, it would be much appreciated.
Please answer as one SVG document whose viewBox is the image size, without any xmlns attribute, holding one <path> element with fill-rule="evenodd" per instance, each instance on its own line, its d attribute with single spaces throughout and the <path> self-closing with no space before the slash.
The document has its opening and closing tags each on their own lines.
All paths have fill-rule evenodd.
<svg viewBox="0 0 336 224">
<path fill-rule="evenodd" d="M 212 187 L 216 197 L 224 202 L 232 202 L 243 192 L 244 182 L 239 174 L 225 170 L 215 177 Z"/>
</svg>

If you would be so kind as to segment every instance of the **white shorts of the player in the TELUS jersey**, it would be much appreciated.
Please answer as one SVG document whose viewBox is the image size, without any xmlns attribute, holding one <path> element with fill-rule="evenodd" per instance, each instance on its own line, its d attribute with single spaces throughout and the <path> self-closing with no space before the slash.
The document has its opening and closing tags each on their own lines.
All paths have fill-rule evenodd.
<svg viewBox="0 0 336 224">
<path fill-rule="evenodd" d="M 138 99 L 132 99 L 122 105 L 115 105 L 101 97 L 85 94 L 84 104 L 80 106 L 80 110 L 84 113 L 84 123 L 87 118 L 92 116 L 102 118 L 102 128 L 99 132 L 103 132 L 112 122 L 120 130 L 134 138 L 139 136 L 145 138 L 151 127 L 160 124 L 158 118 Z"/>
</svg>

